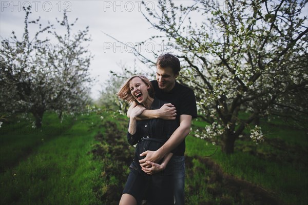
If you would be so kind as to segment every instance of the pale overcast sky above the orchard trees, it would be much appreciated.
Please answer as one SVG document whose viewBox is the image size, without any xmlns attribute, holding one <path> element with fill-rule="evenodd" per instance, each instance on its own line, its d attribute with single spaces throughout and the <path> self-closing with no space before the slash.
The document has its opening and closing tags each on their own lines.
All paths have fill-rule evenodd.
<svg viewBox="0 0 308 205">
<path fill-rule="evenodd" d="M 192 1 L 181 1 L 181 3 Z M 96 78 L 92 87 L 92 98 L 99 97 L 99 91 L 106 83 L 109 71 L 121 70 L 119 64 L 133 67 L 134 55 L 131 49 L 103 32 L 121 40 L 126 45 L 133 45 L 149 38 L 157 31 L 146 22 L 141 11 L 144 10 L 141 1 L 0 1 L 0 35 L 8 38 L 14 30 L 21 39 L 24 29 L 25 11 L 23 7 L 31 6 L 30 19 L 41 16 L 41 23 L 47 25 L 47 20 L 55 24 L 55 17 L 63 18 L 67 9 L 70 22 L 78 17 L 73 29 L 79 30 L 89 26 L 89 50 L 94 55 L 91 61 L 91 76 Z M 155 8 L 157 1 L 147 1 L 148 8 Z M 37 28 L 37 27 L 36 27 Z M 141 52 L 150 54 L 151 45 L 139 47 Z M 142 65 L 139 65 L 142 68 Z"/>
</svg>

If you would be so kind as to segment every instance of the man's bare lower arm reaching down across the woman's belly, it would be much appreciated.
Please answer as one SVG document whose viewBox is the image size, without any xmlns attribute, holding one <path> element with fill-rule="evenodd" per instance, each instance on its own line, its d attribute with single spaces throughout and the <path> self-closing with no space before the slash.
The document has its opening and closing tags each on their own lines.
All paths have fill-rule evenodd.
<svg viewBox="0 0 308 205">
<path fill-rule="evenodd" d="M 157 151 L 145 151 L 140 156 L 146 156 L 144 159 L 139 160 L 142 167 L 146 166 L 146 161 L 158 162 L 166 154 L 174 150 L 189 134 L 191 127 L 191 115 L 180 116 L 180 126 L 170 136 L 166 143 L 159 148 Z"/>
</svg>

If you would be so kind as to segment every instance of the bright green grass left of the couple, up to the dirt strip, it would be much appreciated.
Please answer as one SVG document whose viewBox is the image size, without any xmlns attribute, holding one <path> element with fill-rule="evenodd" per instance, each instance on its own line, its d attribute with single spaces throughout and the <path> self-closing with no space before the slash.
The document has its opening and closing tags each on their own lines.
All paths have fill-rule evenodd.
<svg viewBox="0 0 308 205">
<path fill-rule="evenodd" d="M 2 154 L 8 152 L 1 161 L 2 168 L 7 165 L 1 173 L 1 204 L 99 203 L 93 187 L 102 186 L 99 176 L 103 165 L 87 154 L 98 130 L 89 127 L 92 121 L 99 121 L 98 116 L 79 117 L 65 132 L 53 114 L 45 116 L 43 130 L 48 122 L 53 128 L 47 134 L 16 130 L 12 135 L 1 135 L 2 141 L 9 141 L 1 144 Z M 69 125 L 71 119 L 65 123 Z M 19 151 L 11 152 L 14 147 Z"/>
</svg>

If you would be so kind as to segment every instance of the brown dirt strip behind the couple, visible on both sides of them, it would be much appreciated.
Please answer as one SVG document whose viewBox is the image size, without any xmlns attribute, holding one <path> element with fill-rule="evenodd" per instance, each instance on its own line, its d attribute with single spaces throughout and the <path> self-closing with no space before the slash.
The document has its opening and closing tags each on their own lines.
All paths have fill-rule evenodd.
<svg viewBox="0 0 308 205">
<path fill-rule="evenodd" d="M 128 145 L 123 133 L 114 132 L 117 126 L 107 122 L 108 129 L 99 133 L 95 139 L 99 143 L 91 151 L 97 160 L 105 163 L 102 176 L 105 184 L 95 188 L 102 204 L 118 204 L 128 175 L 128 166 L 133 159 L 134 148 Z M 194 168 L 193 159 L 199 160 L 206 168 Z M 188 185 L 186 195 L 195 193 L 198 189 L 206 189 L 211 198 L 199 201 L 198 204 L 283 204 L 273 193 L 253 185 L 250 182 L 235 178 L 222 172 L 222 169 L 210 158 L 194 156 L 185 157 L 186 178 L 194 177 L 196 172 L 204 173 L 206 187 L 198 184 Z M 208 172 L 208 169 L 211 172 Z M 219 200 L 217 200 L 219 199 Z M 189 201 L 186 201 L 189 204 Z"/>
</svg>

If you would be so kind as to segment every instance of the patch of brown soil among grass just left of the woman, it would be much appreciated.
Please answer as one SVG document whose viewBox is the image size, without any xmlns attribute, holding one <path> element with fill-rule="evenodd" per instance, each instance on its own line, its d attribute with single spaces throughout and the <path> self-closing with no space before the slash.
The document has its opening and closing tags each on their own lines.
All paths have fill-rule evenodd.
<svg viewBox="0 0 308 205">
<path fill-rule="evenodd" d="M 95 145 L 89 153 L 93 154 L 94 159 L 101 160 L 106 165 L 101 172 L 101 177 L 108 186 L 101 185 L 94 191 L 102 204 L 119 204 L 134 149 L 113 122 L 107 121 L 103 133 L 98 133 L 94 138 L 99 141 L 99 144 Z"/>
</svg>

